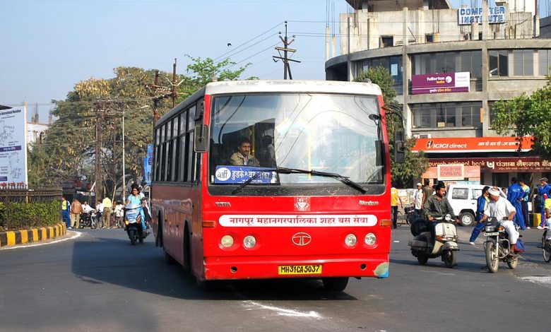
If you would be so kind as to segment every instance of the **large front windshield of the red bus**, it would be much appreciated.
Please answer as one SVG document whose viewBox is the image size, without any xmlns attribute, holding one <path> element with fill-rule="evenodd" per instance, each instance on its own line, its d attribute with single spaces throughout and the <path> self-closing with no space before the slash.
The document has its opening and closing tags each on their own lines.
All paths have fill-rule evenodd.
<svg viewBox="0 0 551 332">
<path fill-rule="evenodd" d="M 383 184 L 377 96 L 326 93 L 215 95 L 211 108 L 211 185 L 242 184 L 266 168 L 335 173 Z M 251 185 L 344 186 L 315 172 L 263 172 Z"/>
</svg>

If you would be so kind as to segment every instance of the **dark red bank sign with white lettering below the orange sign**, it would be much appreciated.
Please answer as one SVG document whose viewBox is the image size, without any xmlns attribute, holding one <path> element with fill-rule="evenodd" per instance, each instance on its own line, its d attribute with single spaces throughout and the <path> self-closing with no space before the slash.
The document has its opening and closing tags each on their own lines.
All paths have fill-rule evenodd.
<svg viewBox="0 0 551 332">
<path fill-rule="evenodd" d="M 478 166 L 482 172 L 551 172 L 551 162 L 537 157 L 429 159 L 429 167 L 458 164 L 465 167 Z"/>
</svg>

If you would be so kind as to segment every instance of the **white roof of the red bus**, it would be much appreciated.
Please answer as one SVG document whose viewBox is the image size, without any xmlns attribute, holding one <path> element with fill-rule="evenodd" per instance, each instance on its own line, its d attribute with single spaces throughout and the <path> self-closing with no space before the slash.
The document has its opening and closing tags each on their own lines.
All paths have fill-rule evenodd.
<svg viewBox="0 0 551 332">
<path fill-rule="evenodd" d="M 346 95 L 381 95 L 373 83 L 314 80 L 250 80 L 211 82 L 163 115 L 155 127 L 195 102 L 203 95 L 228 93 L 338 93 Z"/>
</svg>

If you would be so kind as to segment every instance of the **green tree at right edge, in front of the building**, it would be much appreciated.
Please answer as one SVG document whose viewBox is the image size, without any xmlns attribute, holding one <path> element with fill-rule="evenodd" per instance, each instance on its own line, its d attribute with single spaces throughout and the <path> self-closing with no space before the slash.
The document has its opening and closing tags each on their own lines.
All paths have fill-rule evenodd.
<svg viewBox="0 0 551 332">
<path fill-rule="evenodd" d="M 531 154 L 551 160 L 551 78 L 530 96 L 523 93 L 512 100 L 495 102 L 492 112 L 492 128 L 497 134 L 532 136 Z M 526 147 L 519 145 L 521 148 Z"/>
</svg>

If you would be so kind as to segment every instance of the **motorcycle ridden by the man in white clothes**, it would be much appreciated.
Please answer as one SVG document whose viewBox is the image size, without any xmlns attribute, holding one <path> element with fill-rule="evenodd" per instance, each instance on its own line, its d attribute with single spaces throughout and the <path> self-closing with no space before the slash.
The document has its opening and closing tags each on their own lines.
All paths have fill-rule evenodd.
<svg viewBox="0 0 551 332">
<path fill-rule="evenodd" d="M 484 225 L 484 236 L 487 237 L 484 242 L 484 251 L 488 270 L 496 273 L 499 261 L 504 261 L 509 268 L 515 269 L 519 263 L 519 255 L 511 252 L 509 235 L 497 218 L 488 218 Z"/>
</svg>

